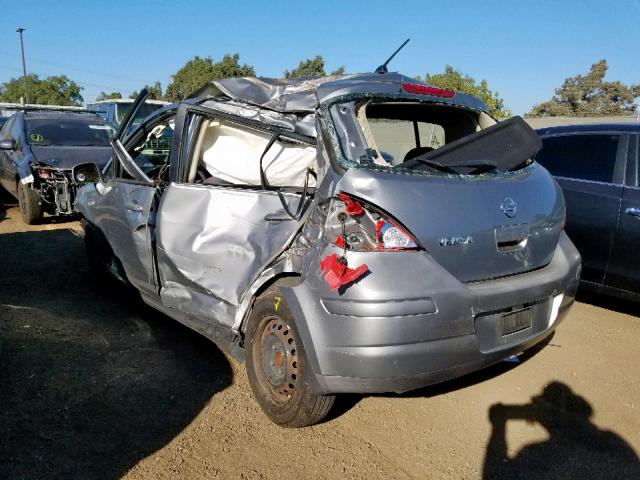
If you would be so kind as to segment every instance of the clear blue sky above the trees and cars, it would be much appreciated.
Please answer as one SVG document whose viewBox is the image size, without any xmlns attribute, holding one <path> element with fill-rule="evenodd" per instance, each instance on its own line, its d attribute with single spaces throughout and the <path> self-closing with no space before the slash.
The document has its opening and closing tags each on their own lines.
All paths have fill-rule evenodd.
<svg viewBox="0 0 640 480">
<path fill-rule="evenodd" d="M 371 71 L 405 38 L 390 70 L 424 75 L 451 64 L 485 78 L 516 114 L 606 58 L 608 79 L 640 83 L 640 0 L 217 2 L 0 0 L 0 82 L 27 70 L 66 74 L 85 100 L 128 95 L 194 55 L 237 52 L 258 75 L 281 76 L 321 54 L 327 70 Z"/>
</svg>

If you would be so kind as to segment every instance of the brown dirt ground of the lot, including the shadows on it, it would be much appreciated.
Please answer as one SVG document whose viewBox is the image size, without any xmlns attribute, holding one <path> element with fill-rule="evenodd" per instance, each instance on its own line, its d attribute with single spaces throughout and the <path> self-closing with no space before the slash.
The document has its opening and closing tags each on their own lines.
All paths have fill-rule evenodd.
<svg viewBox="0 0 640 480">
<path fill-rule="evenodd" d="M 587 297 L 518 364 L 288 430 L 242 365 L 96 284 L 77 223 L 3 195 L 0 255 L 0 478 L 640 478 L 635 305 Z"/>
</svg>

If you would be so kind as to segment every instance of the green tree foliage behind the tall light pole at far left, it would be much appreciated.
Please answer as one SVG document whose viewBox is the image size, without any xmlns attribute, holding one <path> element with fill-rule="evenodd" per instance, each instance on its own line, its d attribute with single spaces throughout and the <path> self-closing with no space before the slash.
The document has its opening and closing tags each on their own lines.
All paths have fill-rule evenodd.
<svg viewBox="0 0 640 480">
<path fill-rule="evenodd" d="M 27 75 L 27 100 L 29 103 L 44 105 L 80 106 L 83 98 L 82 87 L 66 75 L 41 79 L 35 73 Z M 0 85 L 0 101 L 20 102 L 24 96 L 24 83 L 21 78 L 12 78 Z"/>
</svg>

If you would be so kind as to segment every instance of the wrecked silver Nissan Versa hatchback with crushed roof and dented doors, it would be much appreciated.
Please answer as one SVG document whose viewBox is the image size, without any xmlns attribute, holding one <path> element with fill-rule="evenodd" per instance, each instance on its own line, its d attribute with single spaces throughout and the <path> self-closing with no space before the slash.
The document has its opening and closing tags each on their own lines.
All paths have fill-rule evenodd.
<svg viewBox="0 0 640 480">
<path fill-rule="evenodd" d="M 241 78 L 123 138 L 143 98 L 103 174 L 74 170 L 90 264 L 246 357 L 278 424 L 499 362 L 573 302 L 562 192 L 519 117 L 399 74 Z"/>
</svg>

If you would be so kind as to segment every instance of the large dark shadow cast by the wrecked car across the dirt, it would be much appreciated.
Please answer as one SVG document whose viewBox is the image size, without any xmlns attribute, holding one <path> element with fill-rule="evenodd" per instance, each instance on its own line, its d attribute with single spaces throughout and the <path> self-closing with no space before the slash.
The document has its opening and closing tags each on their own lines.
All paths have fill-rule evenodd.
<svg viewBox="0 0 640 480">
<path fill-rule="evenodd" d="M 78 233 L 0 252 L 0 478 L 120 478 L 231 384 L 213 343 L 94 282 Z"/>
</svg>

